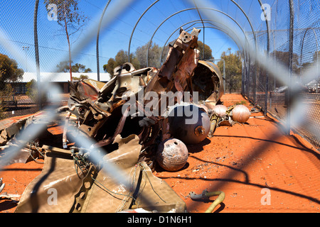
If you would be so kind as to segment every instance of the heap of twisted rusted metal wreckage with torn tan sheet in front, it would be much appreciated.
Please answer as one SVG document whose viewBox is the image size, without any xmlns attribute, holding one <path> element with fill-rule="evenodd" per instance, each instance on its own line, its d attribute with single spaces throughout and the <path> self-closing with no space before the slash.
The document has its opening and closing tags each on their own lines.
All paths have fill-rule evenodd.
<svg viewBox="0 0 320 227">
<path fill-rule="evenodd" d="M 58 110 L 65 121 L 63 148 L 41 141 L 30 145 L 30 150 L 44 155 L 43 171 L 26 187 L 16 212 L 120 212 L 137 208 L 185 212 L 184 201 L 152 170 L 159 162 L 169 171 L 183 167 L 188 157 L 184 144 L 201 142 L 216 126 L 216 114 L 211 110 L 223 95 L 223 78 L 212 62 L 198 60 L 198 33 L 195 28 L 191 33 L 181 30 L 159 69 L 135 70 L 126 63 L 114 69 L 114 77 L 106 84 L 92 79 L 70 82 L 68 106 Z M 182 96 L 162 95 L 169 92 Z M 191 94 L 190 100 L 183 99 L 184 92 Z M 156 96 L 151 99 L 149 94 Z M 164 103 L 165 108 L 161 108 Z M 191 124 L 183 122 L 190 117 L 183 112 L 186 106 L 197 113 Z M 181 116 L 170 114 L 179 108 Z M 16 131 L 30 118 L 28 125 L 32 125 L 39 116 L 23 118 Z M 1 135 L 5 140 L 14 131 L 4 129 Z M 90 148 L 83 148 L 79 138 L 93 141 Z M 166 150 L 170 142 L 171 150 Z M 175 145 L 177 148 L 172 147 Z M 102 159 L 90 160 L 91 149 L 102 150 Z M 164 150 L 168 153 L 162 154 Z M 102 167 L 108 165 L 121 170 L 119 175 L 104 171 Z M 122 184 L 119 176 L 129 185 Z"/>
</svg>

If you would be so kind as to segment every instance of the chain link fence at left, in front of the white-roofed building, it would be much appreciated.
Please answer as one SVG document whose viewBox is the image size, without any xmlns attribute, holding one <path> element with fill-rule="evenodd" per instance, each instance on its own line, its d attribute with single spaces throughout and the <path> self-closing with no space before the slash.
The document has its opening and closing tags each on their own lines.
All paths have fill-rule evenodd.
<svg viewBox="0 0 320 227">
<path fill-rule="evenodd" d="M 63 6 L 57 6 L 54 2 L 62 2 Z M 60 87 L 63 105 L 68 101 L 68 81 L 80 77 L 97 79 L 95 49 L 73 52 L 73 46 L 83 37 L 87 25 L 99 23 L 97 18 L 87 17 L 88 12 L 100 11 L 97 6 L 90 1 L 1 1 L 0 6 L 1 84 L 4 84 L 0 94 L 0 119 L 34 114 L 41 110 L 44 104 L 38 98 L 38 89 L 41 89 L 42 82 L 53 82 Z M 68 18 L 68 40 L 65 23 L 58 14 L 63 7 L 79 13 L 78 18 Z M 78 19 L 80 21 L 72 22 Z M 68 43 L 72 74 L 68 65 Z M 98 57 L 103 64 L 109 58 L 103 52 Z M 9 70 L 4 67 L 5 62 L 16 62 L 15 69 L 19 72 L 5 72 Z M 90 65 L 84 65 L 83 62 Z M 102 71 L 100 80 L 106 82 L 109 79 L 109 75 Z"/>
</svg>

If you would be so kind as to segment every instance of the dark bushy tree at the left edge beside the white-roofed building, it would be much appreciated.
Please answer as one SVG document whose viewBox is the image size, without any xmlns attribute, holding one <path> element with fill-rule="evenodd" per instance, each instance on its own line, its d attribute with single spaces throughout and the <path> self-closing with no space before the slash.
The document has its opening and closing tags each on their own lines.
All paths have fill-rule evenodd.
<svg viewBox="0 0 320 227">
<path fill-rule="evenodd" d="M 0 54 L 0 89 L 4 89 L 6 82 L 16 82 L 22 76 L 23 70 L 18 68 L 16 60 Z"/>
</svg>

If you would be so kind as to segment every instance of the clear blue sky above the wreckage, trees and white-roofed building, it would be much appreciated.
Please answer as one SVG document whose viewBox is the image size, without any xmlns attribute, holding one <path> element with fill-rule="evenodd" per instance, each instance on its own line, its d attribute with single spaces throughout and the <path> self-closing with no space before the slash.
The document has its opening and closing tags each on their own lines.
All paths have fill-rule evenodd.
<svg viewBox="0 0 320 227">
<path fill-rule="evenodd" d="M 279 0 L 283 1 L 284 0 Z M 114 21 L 107 26 L 100 33 L 100 72 L 102 72 L 102 65 L 107 63 L 110 57 L 114 57 L 119 50 L 128 50 L 129 38 L 134 29 L 135 23 L 142 15 L 144 10 L 150 6 L 154 0 L 136 0 L 132 1 L 132 4 L 127 6 L 127 9 L 121 15 L 114 18 Z M 192 2 L 192 1 L 191 1 Z M 250 32 L 249 23 L 247 23 L 245 16 L 241 11 L 232 4 L 231 1 L 216 0 L 210 1 L 217 11 L 212 13 L 218 13 L 223 20 L 229 20 L 227 16 L 219 13 L 223 11 L 235 18 L 245 32 Z M 265 21 L 260 19 L 261 9 L 257 1 L 239 0 L 238 4 L 244 9 L 252 21 L 252 25 L 257 31 L 265 31 Z M 274 0 L 263 1 L 270 4 L 273 7 L 272 12 L 277 12 L 279 18 L 281 18 L 281 4 L 277 4 L 277 9 L 274 7 Z M 100 20 L 100 15 L 105 7 L 107 0 L 81 0 L 79 4 L 80 11 L 88 16 L 86 27 L 82 33 L 78 33 L 73 36 L 73 47 L 85 37 L 88 28 L 92 24 L 97 24 Z M 116 1 L 111 1 L 108 9 L 112 9 L 112 4 Z M 33 40 L 33 11 L 34 1 L 2 1 L 0 4 L 0 19 L 1 29 L 8 35 L 11 44 L 16 45 L 18 50 L 21 50 L 21 55 L 27 55 L 28 60 L 23 62 L 23 70 L 35 71 L 34 64 L 34 40 Z M 139 46 L 145 45 L 149 42 L 151 36 L 156 30 L 157 26 L 168 18 L 171 14 L 181 11 L 183 9 L 194 8 L 194 5 L 190 4 L 190 1 L 186 0 L 161 0 L 156 3 L 142 18 L 137 25 L 134 35 L 132 36 L 131 52 L 134 52 Z M 302 8 L 301 11 L 307 9 Z M 106 11 L 105 17 L 110 14 L 110 11 Z M 198 12 L 196 10 L 189 10 L 178 13 L 176 16 L 172 16 L 170 20 L 166 21 L 159 30 L 155 33 L 153 41 L 154 43 L 163 46 L 166 39 L 184 23 L 189 21 L 199 20 Z M 238 26 L 234 25 L 234 31 L 237 31 Z M 202 26 L 201 23 L 197 23 L 196 26 Z M 207 24 L 207 26 L 209 26 Z M 210 25 L 211 26 L 211 25 Z M 286 27 L 287 24 L 277 24 L 277 29 Z M 213 26 L 211 26 L 213 27 Z M 223 26 L 220 25 L 220 28 Z M 68 55 L 68 43 L 65 38 L 61 27 L 58 26 L 56 21 L 49 21 L 47 18 L 47 11 L 40 1 L 38 8 L 38 42 L 41 61 L 41 70 L 47 71 L 54 69 L 56 62 L 59 62 L 62 56 Z M 231 36 L 234 37 L 232 32 Z M 252 35 L 248 34 L 250 38 Z M 171 40 L 174 40 L 178 36 L 176 32 Z M 171 41 L 169 40 L 169 41 Z M 203 33 L 199 35 L 199 40 L 203 41 Z M 261 43 L 265 43 L 264 40 L 260 40 Z M 235 44 L 230 36 L 226 35 L 222 31 L 218 31 L 213 28 L 206 28 L 205 30 L 205 43 L 213 50 L 213 57 L 220 58 L 221 52 L 232 48 L 233 51 L 238 50 L 238 46 Z M 82 50 L 75 50 L 79 53 L 77 57 L 73 57 L 73 62 L 79 62 L 87 67 L 90 67 L 93 72 L 97 71 L 96 62 L 96 40 L 92 38 L 89 45 Z M 23 52 L 23 46 L 29 46 L 29 50 Z M 263 45 L 262 45 L 263 46 Z M 8 54 L 10 52 L 6 50 L 6 47 L 0 45 L 0 52 Z M 22 62 L 18 62 L 21 63 Z"/>
</svg>

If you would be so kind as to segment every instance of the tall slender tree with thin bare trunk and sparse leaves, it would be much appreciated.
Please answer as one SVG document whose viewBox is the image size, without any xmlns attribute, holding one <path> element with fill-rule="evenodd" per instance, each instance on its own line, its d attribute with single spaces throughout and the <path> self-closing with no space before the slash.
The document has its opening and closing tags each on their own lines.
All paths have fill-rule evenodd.
<svg viewBox="0 0 320 227">
<path fill-rule="evenodd" d="M 65 32 L 68 48 L 69 48 L 69 72 L 70 80 L 72 81 L 72 60 L 71 60 L 71 44 L 70 36 L 78 33 L 83 26 L 87 17 L 84 13 L 79 11 L 78 0 L 44 0 L 48 13 L 52 10 L 52 4 L 57 7 L 57 21 L 59 26 L 63 28 Z"/>
</svg>

